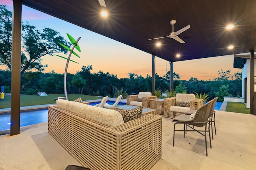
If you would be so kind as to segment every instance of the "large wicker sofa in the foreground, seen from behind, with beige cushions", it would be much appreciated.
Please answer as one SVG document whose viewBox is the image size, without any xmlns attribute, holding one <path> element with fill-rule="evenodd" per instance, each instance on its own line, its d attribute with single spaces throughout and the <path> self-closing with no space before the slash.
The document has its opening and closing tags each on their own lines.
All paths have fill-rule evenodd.
<svg viewBox="0 0 256 170">
<path fill-rule="evenodd" d="M 48 133 L 91 170 L 150 169 L 161 158 L 162 118 L 124 123 L 118 111 L 57 100 L 48 107 Z"/>
</svg>

